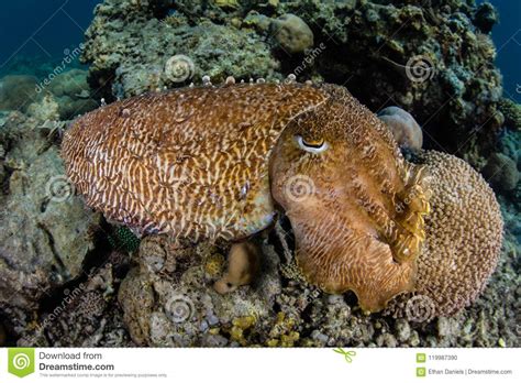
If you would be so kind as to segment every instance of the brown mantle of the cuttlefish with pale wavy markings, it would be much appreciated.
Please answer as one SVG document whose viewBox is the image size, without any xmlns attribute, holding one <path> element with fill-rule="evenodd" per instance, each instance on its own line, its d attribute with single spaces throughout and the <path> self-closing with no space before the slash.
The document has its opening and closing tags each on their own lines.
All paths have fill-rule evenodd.
<svg viewBox="0 0 521 383">
<path fill-rule="evenodd" d="M 109 105 L 67 131 L 67 175 L 87 204 L 145 233 L 193 242 L 248 237 L 271 223 L 267 157 L 308 86 L 237 85 Z"/>
</svg>

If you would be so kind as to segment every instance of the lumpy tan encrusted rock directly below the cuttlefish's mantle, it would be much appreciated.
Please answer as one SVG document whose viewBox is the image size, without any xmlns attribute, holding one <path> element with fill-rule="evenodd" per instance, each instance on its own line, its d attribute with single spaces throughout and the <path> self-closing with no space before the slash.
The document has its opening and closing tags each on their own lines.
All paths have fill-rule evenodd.
<svg viewBox="0 0 521 383">
<path fill-rule="evenodd" d="M 223 272 L 225 249 L 200 244 L 179 250 L 167 237 L 147 237 L 142 241 L 138 265 L 119 291 L 134 342 L 222 347 L 231 341 L 246 346 L 243 331 L 256 329 L 256 333 L 263 333 L 263 324 L 276 317 L 273 306 L 281 289 L 278 256 L 264 243 L 258 280 L 252 286 L 221 295 L 211 282 Z"/>
</svg>

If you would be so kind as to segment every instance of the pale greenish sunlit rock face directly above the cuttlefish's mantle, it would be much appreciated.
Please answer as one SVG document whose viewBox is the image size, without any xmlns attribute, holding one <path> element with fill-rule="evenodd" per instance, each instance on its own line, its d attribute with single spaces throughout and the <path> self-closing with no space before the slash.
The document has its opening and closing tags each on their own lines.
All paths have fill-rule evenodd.
<svg viewBox="0 0 521 383">
<path fill-rule="evenodd" d="M 209 20 L 190 24 L 177 12 L 167 17 L 167 10 L 160 8 L 160 3 L 148 1 L 148 9 L 145 6 L 130 11 L 126 8 L 135 7 L 131 2 L 110 0 L 97 8 L 97 17 L 87 31 L 82 58 L 91 63 L 92 87 L 106 87 L 103 97 L 107 99 L 184 85 L 192 76 L 209 75 L 220 83 L 230 75 L 282 78 L 277 73 L 279 61 L 271 56 L 270 47 L 262 36 L 253 31 L 228 28 Z M 163 11 L 153 11 L 154 4 Z M 122 9 L 126 13 L 121 13 Z M 163 15 L 162 20 L 154 17 L 157 12 Z M 123 14 L 126 15 L 120 19 Z M 129 35 L 128 31 L 137 34 L 131 37 L 133 33 Z M 117 46 L 114 41 L 119 41 Z M 179 55 L 190 59 L 192 70 L 175 76 L 173 81 L 171 69 L 165 70 L 165 66 L 170 57 Z M 186 61 L 180 59 L 166 67 L 185 65 Z"/>
</svg>

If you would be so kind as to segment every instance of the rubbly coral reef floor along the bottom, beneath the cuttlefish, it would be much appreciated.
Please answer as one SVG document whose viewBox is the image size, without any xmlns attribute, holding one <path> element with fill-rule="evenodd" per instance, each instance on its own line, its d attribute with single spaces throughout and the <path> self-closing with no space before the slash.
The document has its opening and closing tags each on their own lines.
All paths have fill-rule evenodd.
<svg viewBox="0 0 521 383">
<path fill-rule="evenodd" d="M 33 124 L 9 127 L 32 131 Z M 9 153 L 9 142 L 2 146 Z M 43 295 L 47 298 L 38 311 L 19 310 L 19 319 L 13 320 L 13 309 L 2 303 L 0 320 L 8 344 L 19 346 L 519 347 L 521 291 L 516 286 L 521 274 L 519 244 L 511 232 L 519 218 L 512 210 L 503 215 L 509 223 L 497 272 L 478 299 L 451 318 L 428 321 L 415 310 L 404 310 L 398 319 L 367 316 L 353 295 L 324 294 L 307 285 L 291 263 L 291 233 L 279 227 L 280 236 L 274 232 L 260 242 L 258 278 L 226 295 L 212 284 L 225 272 L 228 247 L 203 243 L 180 250 L 168 238 L 146 237 L 138 255 L 132 256 L 137 264 L 128 273 L 124 252 L 134 251 L 137 239 L 115 228 L 110 236 L 123 252 L 107 253 L 95 243 L 103 267 L 85 269 L 87 276 L 65 289 L 57 284 L 47 291 L 51 297 Z M 124 243 L 134 244 L 126 249 Z"/>
</svg>

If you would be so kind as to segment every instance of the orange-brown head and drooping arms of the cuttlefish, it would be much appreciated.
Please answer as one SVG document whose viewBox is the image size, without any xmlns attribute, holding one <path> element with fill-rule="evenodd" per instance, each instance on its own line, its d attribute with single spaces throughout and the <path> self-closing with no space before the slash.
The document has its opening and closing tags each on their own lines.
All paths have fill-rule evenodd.
<svg viewBox="0 0 521 383">
<path fill-rule="evenodd" d="M 324 90 L 330 100 L 291 121 L 278 141 L 271 193 L 291 221 L 308 280 L 332 293 L 354 291 L 363 309 L 376 311 L 414 286 L 429 212 L 422 171 L 403 161 L 389 131 L 345 89 Z M 302 151 L 299 135 L 329 149 Z M 288 179 L 302 176 L 312 193 L 296 199 Z"/>
</svg>

